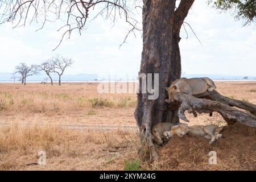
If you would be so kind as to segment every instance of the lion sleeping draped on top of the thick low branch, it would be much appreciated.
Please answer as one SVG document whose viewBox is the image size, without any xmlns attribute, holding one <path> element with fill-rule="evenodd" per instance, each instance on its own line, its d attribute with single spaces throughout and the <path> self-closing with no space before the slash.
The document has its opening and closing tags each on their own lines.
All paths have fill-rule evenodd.
<svg viewBox="0 0 256 182">
<path fill-rule="evenodd" d="M 176 92 L 185 94 L 201 94 L 208 91 L 213 91 L 216 86 L 208 77 L 203 78 L 179 78 L 171 83 L 171 86 L 166 87 L 169 100 L 172 100 L 172 95 Z"/>
</svg>

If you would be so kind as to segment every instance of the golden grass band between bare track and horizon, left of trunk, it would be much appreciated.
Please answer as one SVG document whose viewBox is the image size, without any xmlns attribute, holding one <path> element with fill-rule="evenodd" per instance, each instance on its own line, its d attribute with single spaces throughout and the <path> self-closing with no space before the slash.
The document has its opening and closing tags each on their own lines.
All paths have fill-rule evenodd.
<svg viewBox="0 0 256 182">
<path fill-rule="evenodd" d="M 0 110 L 30 113 L 68 113 L 88 107 L 134 107 L 134 94 L 98 94 L 97 84 L 1 84 Z M 92 93 L 90 89 L 94 89 Z M 126 96 L 127 95 L 127 96 Z"/>
</svg>

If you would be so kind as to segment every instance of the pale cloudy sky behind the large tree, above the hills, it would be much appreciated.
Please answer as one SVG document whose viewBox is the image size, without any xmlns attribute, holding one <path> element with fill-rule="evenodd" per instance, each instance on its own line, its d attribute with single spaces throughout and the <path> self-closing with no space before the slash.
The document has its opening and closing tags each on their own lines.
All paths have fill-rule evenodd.
<svg viewBox="0 0 256 182">
<path fill-rule="evenodd" d="M 138 15 L 139 20 L 141 17 Z M 230 13 L 208 7 L 205 1 L 196 1 L 185 22 L 191 24 L 201 40 L 201 45 L 191 30 L 188 39 L 181 31 L 181 63 L 186 74 L 208 75 L 256 75 L 256 27 L 242 27 Z M 66 74 L 137 74 L 139 71 L 142 39 L 133 34 L 119 48 L 127 32 L 127 24 L 112 24 L 97 19 L 88 24 L 82 36 L 72 34 L 56 51 L 61 34 L 56 30 L 59 23 L 48 23 L 43 30 L 35 31 L 40 24 L 12 28 L 0 25 L 0 72 L 13 72 L 21 61 L 39 64 L 49 57 L 60 54 L 72 57 L 75 64 Z"/>
</svg>

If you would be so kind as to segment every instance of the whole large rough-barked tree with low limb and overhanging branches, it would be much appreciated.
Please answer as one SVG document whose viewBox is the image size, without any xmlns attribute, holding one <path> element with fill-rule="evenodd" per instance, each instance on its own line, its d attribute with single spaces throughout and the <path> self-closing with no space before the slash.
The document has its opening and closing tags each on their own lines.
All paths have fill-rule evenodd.
<svg viewBox="0 0 256 182">
<path fill-rule="evenodd" d="M 200 98 L 197 98 L 197 100 L 190 98 L 190 101 L 193 102 L 188 102 L 189 99 L 187 97 L 190 96 L 183 94 L 177 94 L 175 96 L 176 103 L 168 102 L 167 104 L 167 92 L 165 88 L 166 86 L 169 86 L 172 81 L 180 78 L 181 75 L 181 56 L 179 49 L 179 42 L 181 39 L 180 29 L 193 2 L 194 0 L 60 0 L 57 2 L 53 0 L 46 0 L 43 2 L 39 0 L 6 0 L 0 2 L 0 7 L 2 7 L 2 22 L 14 22 L 16 25 L 26 24 L 26 22 L 28 22 L 26 21 L 28 19 L 28 12 L 33 14 L 31 16 L 32 19 L 30 20 L 38 20 L 39 16 L 44 19 L 42 27 L 46 22 L 52 22 L 52 19 L 48 19 L 48 17 L 52 17 L 52 12 L 56 14 L 57 19 L 60 19 L 64 13 L 67 13 L 67 16 L 65 16 L 66 24 L 61 27 L 61 30 L 64 31 L 63 37 L 60 40 L 61 43 L 63 38 L 65 36 L 69 37 L 74 30 L 78 30 L 81 34 L 81 31 L 86 26 L 86 22 L 97 18 L 98 15 L 105 15 L 106 18 L 112 19 L 113 22 L 115 22 L 117 16 L 121 16 L 121 18 L 123 18 L 123 20 L 130 26 L 128 34 L 139 30 L 138 22 L 133 17 L 131 6 L 139 9 L 139 7 L 143 5 L 143 50 L 139 73 L 144 75 L 147 75 L 147 73 L 152 74 L 153 83 L 151 84 L 153 85 L 155 84 L 155 74 L 158 76 L 159 97 L 156 100 L 150 100 L 148 99 L 148 96 L 151 96 L 152 92 L 138 93 L 138 101 L 134 115 L 141 131 L 141 138 L 147 144 L 148 153 L 150 154 L 151 159 L 155 160 L 158 158 L 158 155 L 156 154 L 154 144 L 152 143 L 152 135 L 150 132 L 151 126 L 162 121 L 179 122 L 179 118 L 185 119 L 183 114 L 186 109 L 189 109 L 189 112 L 194 111 L 194 114 L 195 110 L 201 112 L 212 110 L 220 113 L 223 112 L 221 114 L 228 123 L 231 123 L 231 121 L 238 121 L 250 126 L 256 126 L 256 122 L 246 122 L 245 119 L 243 119 L 244 117 L 238 117 L 239 115 L 247 115 L 247 117 L 250 118 L 249 120 L 253 121 L 256 115 L 255 105 L 237 100 L 228 100 L 227 98 L 224 99 L 224 97 L 218 95 L 216 92 L 212 95 L 208 93 L 208 95 L 197 96 L 207 97 L 209 105 L 204 103 L 204 100 Z M 237 10 L 236 18 L 245 19 L 246 24 L 255 22 L 255 0 L 216 0 L 207 2 L 220 10 Z M 89 16 L 89 12 L 90 15 L 94 14 L 94 16 Z M 144 78 L 148 80 L 147 77 Z M 141 85 L 139 86 L 139 90 L 141 90 Z M 221 105 L 220 98 L 225 100 L 224 105 Z M 212 104 L 212 102 L 214 102 L 214 104 Z M 193 104 L 200 105 L 201 110 Z M 223 110 L 213 108 L 214 105 L 223 107 Z M 237 109 L 230 109 L 230 106 L 243 107 L 243 109 L 249 110 L 252 114 L 240 113 Z M 238 120 L 239 118 L 242 120 Z"/>
</svg>

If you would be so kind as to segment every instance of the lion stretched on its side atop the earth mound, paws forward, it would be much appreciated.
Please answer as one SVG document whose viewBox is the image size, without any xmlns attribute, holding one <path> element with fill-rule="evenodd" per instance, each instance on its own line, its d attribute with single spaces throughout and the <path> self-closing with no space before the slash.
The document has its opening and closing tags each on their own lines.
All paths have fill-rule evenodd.
<svg viewBox="0 0 256 182">
<path fill-rule="evenodd" d="M 210 139 L 209 144 L 213 144 L 216 139 L 218 140 L 222 137 L 222 134 L 220 134 L 220 132 L 222 131 L 223 127 L 224 126 L 218 127 L 216 125 L 188 126 L 187 124 L 180 123 L 177 126 L 171 127 L 170 131 L 165 131 L 163 133 L 163 140 L 169 140 L 175 134 L 179 137 L 183 137 L 184 135 L 188 134 L 192 135 L 193 137 L 205 137 L 207 139 Z"/>
</svg>

